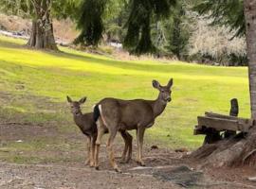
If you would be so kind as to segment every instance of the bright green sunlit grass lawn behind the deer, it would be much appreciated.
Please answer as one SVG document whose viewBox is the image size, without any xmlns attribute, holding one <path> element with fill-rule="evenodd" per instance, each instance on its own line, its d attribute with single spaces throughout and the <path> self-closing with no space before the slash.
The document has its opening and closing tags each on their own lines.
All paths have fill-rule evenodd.
<svg viewBox="0 0 256 189">
<path fill-rule="evenodd" d="M 66 94 L 75 99 L 87 96 L 83 112 L 89 112 L 106 96 L 155 99 L 152 80 L 165 85 L 170 77 L 174 77 L 173 101 L 146 131 L 147 141 L 170 147 L 199 146 L 202 137 L 192 135 L 196 116 L 206 111 L 229 113 L 229 99 L 233 97 L 239 100 L 240 116 L 249 116 L 246 67 L 120 61 L 64 47 L 61 53 L 30 50 L 22 46 L 24 43 L 0 37 L 0 91 L 15 96 L 7 103 L 0 94 L 0 110 L 5 116 L 22 113 L 23 121 L 70 123 Z M 63 111 L 42 108 L 36 105 L 37 98 L 22 97 L 27 95 L 46 98 L 53 104 L 61 102 Z M 59 127 L 74 131 L 65 124 Z"/>
</svg>

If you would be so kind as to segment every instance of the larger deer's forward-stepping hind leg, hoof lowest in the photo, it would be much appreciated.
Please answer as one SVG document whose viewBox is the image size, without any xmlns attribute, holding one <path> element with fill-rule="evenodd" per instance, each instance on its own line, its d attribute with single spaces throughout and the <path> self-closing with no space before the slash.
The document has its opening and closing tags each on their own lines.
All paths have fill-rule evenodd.
<svg viewBox="0 0 256 189">
<path fill-rule="evenodd" d="M 109 156 L 109 161 L 112 165 L 112 167 L 117 171 L 120 172 L 119 166 L 115 161 L 115 154 L 113 151 L 113 144 L 114 144 L 114 139 L 117 135 L 117 129 L 109 129 L 109 138 L 107 142 L 107 150 L 108 150 L 108 156 Z"/>
</svg>

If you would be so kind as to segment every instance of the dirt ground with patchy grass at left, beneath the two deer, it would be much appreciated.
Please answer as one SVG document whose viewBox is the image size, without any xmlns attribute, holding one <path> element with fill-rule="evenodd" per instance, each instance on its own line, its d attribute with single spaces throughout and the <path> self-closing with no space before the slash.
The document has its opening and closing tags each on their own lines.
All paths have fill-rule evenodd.
<svg viewBox="0 0 256 189">
<path fill-rule="evenodd" d="M 138 166 L 134 160 L 136 140 L 132 161 L 120 163 L 123 142 L 119 136 L 114 147 L 122 173 L 113 171 L 104 144 L 101 145 L 100 170 L 95 170 L 84 164 L 86 139 L 69 119 L 71 114 L 64 104 L 31 95 L 16 98 L 2 92 L 0 103 L 10 99 L 17 103 L 22 98 L 23 103 L 32 101 L 39 110 L 69 113 L 70 117 L 62 120 L 54 115 L 35 124 L 33 118 L 26 119 L 27 114 L 8 113 L 0 107 L 0 189 L 256 188 L 256 182 L 247 180 L 256 176 L 251 167 L 201 167 L 186 158 L 190 152 L 155 146 L 155 141 L 144 145 L 146 166 Z"/>
</svg>

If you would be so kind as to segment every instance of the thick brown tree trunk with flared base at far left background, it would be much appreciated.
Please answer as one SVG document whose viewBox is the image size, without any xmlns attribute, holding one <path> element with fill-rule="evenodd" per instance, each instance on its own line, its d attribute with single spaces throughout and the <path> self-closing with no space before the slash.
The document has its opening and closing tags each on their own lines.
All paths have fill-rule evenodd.
<svg viewBox="0 0 256 189">
<path fill-rule="evenodd" d="M 34 2 L 36 18 L 32 21 L 31 34 L 27 42 L 27 45 L 30 47 L 58 50 L 50 18 L 50 3 L 50 0 Z"/>
</svg>

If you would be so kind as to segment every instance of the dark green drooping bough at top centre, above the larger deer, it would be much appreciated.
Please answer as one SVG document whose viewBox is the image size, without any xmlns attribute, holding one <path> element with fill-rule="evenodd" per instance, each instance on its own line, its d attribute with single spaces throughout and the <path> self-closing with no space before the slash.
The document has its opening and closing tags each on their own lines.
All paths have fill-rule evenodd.
<svg viewBox="0 0 256 189">
<path fill-rule="evenodd" d="M 131 0 L 124 47 L 137 55 L 154 53 L 156 48 L 151 39 L 152 18 L 155 16 L 159 20 L 168 17 L 174 4 L 174 0 Z"/>
</svg>

